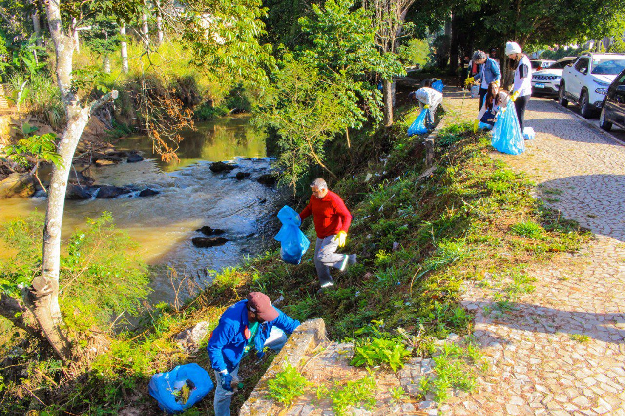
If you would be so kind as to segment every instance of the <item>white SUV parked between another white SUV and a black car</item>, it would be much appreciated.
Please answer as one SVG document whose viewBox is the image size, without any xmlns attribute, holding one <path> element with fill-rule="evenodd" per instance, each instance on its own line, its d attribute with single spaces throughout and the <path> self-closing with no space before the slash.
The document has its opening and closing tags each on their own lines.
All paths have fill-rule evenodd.
<svg viewBox="0 0 625 416">
<path fill-rule="evenodd" d="M 586 52 L 564 67 L 557 101 L 564 107 L 574 102 L 582 116 L 591 117 L 601 109 L 607 87 L 623 69 L 624 54 Z"/>
</svg>

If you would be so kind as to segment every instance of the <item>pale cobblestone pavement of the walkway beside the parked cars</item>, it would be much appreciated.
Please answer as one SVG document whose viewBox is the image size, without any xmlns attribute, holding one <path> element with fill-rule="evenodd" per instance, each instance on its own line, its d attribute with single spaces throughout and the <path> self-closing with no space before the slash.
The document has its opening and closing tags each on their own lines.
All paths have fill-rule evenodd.
<svg viewBox="0 0 625 416">
<path fill-rule="evenodd" d="M 446 104 L 458 116 L 454 95 Z M 475 100 L 466 101 L 462 119 L 474 114 Z M 549 100 L 531 100 L 526 125 L 536 131 L 526 152 L 493 156 L 526 172 L 548 204 L 596 240 L 532 270 L 536 290 L 509 313 L 488 313 L 489 290 L 466 286 L 462 304 L 476 314 L 474 335 L 492 368 L 449 412 L 625 415 L 625 146 Z"/>
</svg>

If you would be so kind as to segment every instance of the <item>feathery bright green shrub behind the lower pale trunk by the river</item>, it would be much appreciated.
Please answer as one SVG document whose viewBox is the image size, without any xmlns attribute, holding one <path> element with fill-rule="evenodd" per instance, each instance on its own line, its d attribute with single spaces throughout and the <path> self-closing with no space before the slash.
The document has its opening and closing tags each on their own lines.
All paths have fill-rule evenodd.
<svg viewBox="0 0 625 416">
<path fill-rule="evenodd" d="M 137 245 L 116 229 L 110 213 L 86 222 L 86 229 L 73 232 L 61 255 L 59 303 L 66 320 L 81 322 L 76 329 L 109 329 L 112 317 L 138 313 L 149 292 L 148 269 L 136 255 Z M 0 268 L 3 295 L 21 299 L 21 285 L 39 274 L 42 226 L 42 215 L 35 213 L 2 227 L 2 239 L 17 250 Z"/>
</svg>

